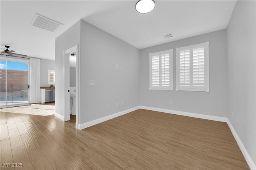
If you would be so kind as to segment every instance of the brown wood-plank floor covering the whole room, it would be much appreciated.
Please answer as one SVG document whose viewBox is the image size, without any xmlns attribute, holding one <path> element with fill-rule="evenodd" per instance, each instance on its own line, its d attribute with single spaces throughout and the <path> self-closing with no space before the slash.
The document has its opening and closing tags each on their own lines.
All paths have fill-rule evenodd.
<svg viewBox="0 0 256 170">
<path fill-rule="evenodd" d="M 0 116 L 1 165 L 15 169 L 249 169 L 223 122 L 139 109 L 77 130 L 75 116 Z"/>
</svg>

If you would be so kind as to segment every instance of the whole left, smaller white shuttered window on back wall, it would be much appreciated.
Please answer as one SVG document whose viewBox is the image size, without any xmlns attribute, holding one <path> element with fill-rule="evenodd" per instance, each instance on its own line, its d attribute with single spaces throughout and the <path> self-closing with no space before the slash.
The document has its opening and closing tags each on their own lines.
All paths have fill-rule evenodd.
<svg viewBox="0 0 256 170">
<path fill-rule="evenodd" d="M 149 90 L 173 90 L 172 49 L 149 54 Z"/>
</svg>

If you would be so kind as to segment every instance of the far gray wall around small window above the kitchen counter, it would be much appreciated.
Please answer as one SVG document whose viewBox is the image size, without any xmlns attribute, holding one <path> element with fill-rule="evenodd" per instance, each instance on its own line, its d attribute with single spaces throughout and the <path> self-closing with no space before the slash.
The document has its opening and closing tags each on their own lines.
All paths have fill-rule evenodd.
<svg viewBox="0 0 256 170">
<path fill-rule="evenodd" d="M 55 70 L 55 61 L 42 59 L 40 61 L 40 86 L 50 86 L 48 84 L 48 69 Z"/>
</svg>

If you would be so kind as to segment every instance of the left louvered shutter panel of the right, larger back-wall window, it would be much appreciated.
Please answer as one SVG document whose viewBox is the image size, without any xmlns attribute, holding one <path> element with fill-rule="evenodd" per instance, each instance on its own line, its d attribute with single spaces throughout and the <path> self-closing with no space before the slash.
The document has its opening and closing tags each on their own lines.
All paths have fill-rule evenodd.
<svg viewBox="0 0 256 170">
<path fill-rule="evenodd" d="M 190 86 L 190 51 L 180 51 L 180 86 Z"/>
</svg>

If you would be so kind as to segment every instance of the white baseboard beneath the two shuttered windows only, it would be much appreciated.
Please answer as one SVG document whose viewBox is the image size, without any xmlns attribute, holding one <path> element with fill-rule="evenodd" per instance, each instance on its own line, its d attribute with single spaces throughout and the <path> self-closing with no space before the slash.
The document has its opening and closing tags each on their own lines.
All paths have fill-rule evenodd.
<svg viewBox="0 0 256 170">
<path fill-rule="evenodd" d="M 208 120 L 214 120 L 214 121 L 227 122 L 227 120 L 228 120 L 228 118 L 226 118 L 226 117 L 203 115 L 203 114 L 198 114 L 198 113 L 190 113 L 190 112 L 185 112 L 185 111 L 176 111 L 176 110 L 169 110 L 169 109 L 160 109 L 160 108 L 156 108 L 156 107 L 140 106 L 140 109 L 160 111 L 160 112 L 164 112 L 164 113 L 171 113 L 174 115 L 196 117 L 196 118 L 200 118 L 200 119 L 208 119 Z"/>
</svg>

